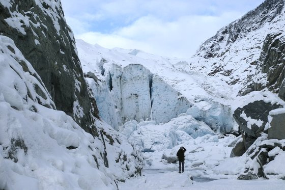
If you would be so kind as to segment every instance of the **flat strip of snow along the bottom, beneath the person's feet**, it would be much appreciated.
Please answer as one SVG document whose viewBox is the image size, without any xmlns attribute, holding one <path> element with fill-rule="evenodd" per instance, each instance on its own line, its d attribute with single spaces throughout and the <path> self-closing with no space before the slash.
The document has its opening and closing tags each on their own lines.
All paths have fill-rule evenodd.
<svg viewBox="0 0 285 190">
<path fill-rule="evenodd" d="M 178 172 L 167 171 L 165 173 L 144 172 L 143 177 L 119 183 L 119 189 L 284 189 L 285 182 L 281 179 L 274 180 L 237 180 L 218 179 L 209 181 L 207 179 L 190 181 L 189 172 L 179 174 Z M 202 178 L 203 179 L 203 178 Z M 197 179 L 199 180 L 199 179 Z"/>
</svg>

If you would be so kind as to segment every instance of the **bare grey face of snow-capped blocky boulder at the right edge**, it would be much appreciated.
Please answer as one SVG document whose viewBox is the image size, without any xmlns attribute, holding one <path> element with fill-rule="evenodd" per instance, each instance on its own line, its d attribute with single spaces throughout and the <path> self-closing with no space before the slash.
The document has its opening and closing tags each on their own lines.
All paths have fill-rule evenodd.
<svg viewBox="0 0 285 190">
<path fill-rule="evenodd" d="M 272 115 L 271 117 L 268 139 L 285 139 L 285 114 Z"/>
</svg>

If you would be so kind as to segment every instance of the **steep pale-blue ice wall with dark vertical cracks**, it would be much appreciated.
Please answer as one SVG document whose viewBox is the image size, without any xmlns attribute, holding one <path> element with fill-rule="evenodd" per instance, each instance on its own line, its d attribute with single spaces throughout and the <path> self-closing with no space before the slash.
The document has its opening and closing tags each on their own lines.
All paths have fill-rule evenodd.
<svg viewBox="0 0 285 190">
<path fill-rule="evenodd" d="M 88 80 L 100 117 L 113 126 L 131 120 L 165 123 L 190 107 L 185 97 L 142 65 L 113 64 L 105 78 L 106 82 Z"/>
</svg>

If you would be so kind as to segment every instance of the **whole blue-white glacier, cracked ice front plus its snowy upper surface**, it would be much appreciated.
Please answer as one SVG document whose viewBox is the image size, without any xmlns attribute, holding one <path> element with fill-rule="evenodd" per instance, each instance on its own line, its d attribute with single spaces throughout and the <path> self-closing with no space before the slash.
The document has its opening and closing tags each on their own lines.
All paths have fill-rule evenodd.
<svg viewBox="0 0 285 190">
<path fill-rule="evenodd" d="M 237 92 L 219 79 L 136 49 L 105 49 L 82 40 L 77 49 L 99 115 L 115 128 L 131 120 L 166 123 L 186 112 L 216 131 L 234 127 L 229 105 Z"/>
</svg>

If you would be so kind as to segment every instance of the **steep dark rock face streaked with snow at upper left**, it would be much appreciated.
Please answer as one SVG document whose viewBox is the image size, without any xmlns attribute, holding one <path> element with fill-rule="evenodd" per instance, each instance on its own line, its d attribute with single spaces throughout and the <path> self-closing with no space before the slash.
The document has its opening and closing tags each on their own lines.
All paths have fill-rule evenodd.
<svg viewBox="0 0 285 190">
<path fill-rule="evenodd" d="M 0 34 L 14 40 L 40 75 L 58 110 L 72 116 L 87 132 L 92 117 L 87 84 L 77 56 L 75 40 L 58 1 L 0 3 Z"/>
</svg>

